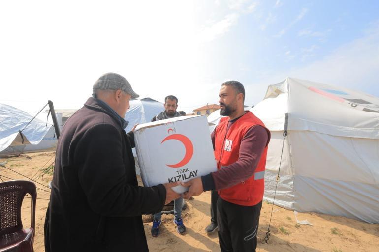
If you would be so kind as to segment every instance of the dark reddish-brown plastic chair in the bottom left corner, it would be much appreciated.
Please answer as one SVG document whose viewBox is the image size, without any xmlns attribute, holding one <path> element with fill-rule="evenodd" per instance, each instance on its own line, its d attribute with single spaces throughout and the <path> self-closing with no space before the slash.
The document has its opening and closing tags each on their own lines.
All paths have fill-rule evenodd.
<svg viewBox="0 0 379 252">
<path fill-rule="evenodd" d="M 32 224 L 23 227 L 21 205 L 26 194 L 32 196 Z M 33 252 L 35 230 L 34 183 L 24 180 L 0 183 L 0 252 Z"/>
</svg>

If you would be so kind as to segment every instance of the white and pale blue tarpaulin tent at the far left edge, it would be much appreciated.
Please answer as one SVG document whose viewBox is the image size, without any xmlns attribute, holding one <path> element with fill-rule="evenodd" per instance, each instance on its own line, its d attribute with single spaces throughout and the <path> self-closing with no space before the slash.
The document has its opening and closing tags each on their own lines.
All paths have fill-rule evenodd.
<svg viewBox="0 0 379 252">
<path fill-rule="evenodd" d="M 54 127 L 12 106 L 0 103 L 0 152 L 22 153 L 27 145 L 38 145 Z M 29 124 L 28 124 L 29 123 Z M 22 133 L 20 134 L 20 131 Z"/>
</svg>

